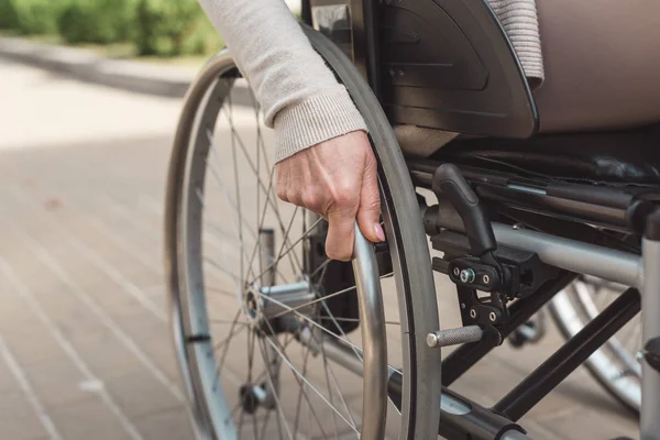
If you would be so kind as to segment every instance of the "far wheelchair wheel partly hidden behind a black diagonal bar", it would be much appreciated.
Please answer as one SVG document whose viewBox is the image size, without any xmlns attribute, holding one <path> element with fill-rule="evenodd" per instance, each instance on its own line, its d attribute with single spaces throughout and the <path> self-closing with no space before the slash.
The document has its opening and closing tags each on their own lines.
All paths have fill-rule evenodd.
<svg viewBox="0 0 660 440">
<path fill-rule="evenodd" d="M 570 339 L 612 302 L 625 287 L 593 277 L 581 277 L 559 293 L 550 310 L 562 334 Z M 590 373 L 624 405 L 641 405 L 641 321 L 634 318 L 585 362 Z"/>
</svg>

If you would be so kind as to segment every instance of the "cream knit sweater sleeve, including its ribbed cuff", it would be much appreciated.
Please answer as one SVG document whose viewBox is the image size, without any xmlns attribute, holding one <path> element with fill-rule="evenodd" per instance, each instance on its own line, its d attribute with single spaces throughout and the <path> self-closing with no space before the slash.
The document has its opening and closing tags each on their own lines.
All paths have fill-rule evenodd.
<svg viewBox="0 0 660 440">
<path fill-rule="evenodd" d="M 284 0 L 199 0 L 277 135 L 277 162 L 366 131 L 346 89 L 314 51 Z"/>
</svg>

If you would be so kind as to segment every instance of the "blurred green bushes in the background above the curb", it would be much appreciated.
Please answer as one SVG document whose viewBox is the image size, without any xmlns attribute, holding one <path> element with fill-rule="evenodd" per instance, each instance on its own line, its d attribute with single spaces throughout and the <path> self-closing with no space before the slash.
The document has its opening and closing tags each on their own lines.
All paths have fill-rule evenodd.
<svg viewBox="0 0 660 440">
<path fill-rule="evenodd" d="M 222 41 L 197 0 L 0 0 L 0 29 L 69 44 L 133 43 L 138 55 L 208 54 Z"/>
</svg>

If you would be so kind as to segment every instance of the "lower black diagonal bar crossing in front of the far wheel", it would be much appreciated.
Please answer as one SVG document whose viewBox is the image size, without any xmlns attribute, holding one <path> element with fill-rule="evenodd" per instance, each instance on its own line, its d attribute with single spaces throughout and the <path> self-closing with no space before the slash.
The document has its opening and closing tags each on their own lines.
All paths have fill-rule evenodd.
<svg viewBox="0 0 660 440">
<path fill-rule="evenodd" d="M 510 420 L 519 420 L 630 321 L 639 312 L 640 307 L 639 290 L 627 289 L 504 396 L 493 409 Z"/>
</svg>

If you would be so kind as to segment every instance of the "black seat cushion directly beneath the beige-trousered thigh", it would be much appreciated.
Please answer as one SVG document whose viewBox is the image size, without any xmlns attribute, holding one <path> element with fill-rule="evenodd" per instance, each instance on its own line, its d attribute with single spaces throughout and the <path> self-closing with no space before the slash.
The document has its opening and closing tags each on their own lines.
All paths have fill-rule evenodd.
<svg viewBox="0 0 660 440">
<path fill-rule="evenodd" d="M 432 158 L 521 176 L 596 184 L 660 186 L 660 124 L 532 139 L 455 140 Z"/>
</svg>

